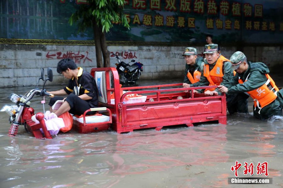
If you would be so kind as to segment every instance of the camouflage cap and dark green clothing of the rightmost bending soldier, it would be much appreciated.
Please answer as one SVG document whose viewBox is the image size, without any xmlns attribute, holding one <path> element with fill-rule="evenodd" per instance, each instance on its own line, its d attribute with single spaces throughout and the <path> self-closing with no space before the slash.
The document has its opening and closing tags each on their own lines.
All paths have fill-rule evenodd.
<svg viewBox="0 0 283 188">
<path fill-rule="evenodd" d="M 230 61 L 234 67 L 237 69 L 241 62 L 246 59 L 244 53 L 237 51 L 231 57 Z M 236 94 L 236 93 L 243 93 L 258 89 L 262 85 L 264 85 L 267 81 L 266 74 L 269 73 L 268 67 L 261 62 L 247 62 L 248 68 L 243 73 L 236 73 L 236 75 L 231 79 L 230 86 L 228 88 L 227 94 Z M 243 84 L 239 83 L 239 79 L 246 80 Z M 281 89 L 277 92 L 277 98 L 267 106 L 260 110 L 258 107 L 253 107 L 253 115 L 258 119 L 267 119 L 273 115 L 282 115 L 282 108 L 283 108 L 283 90 Z M 246 105 L 243 103 L 242 105 Z"/>
</svg>

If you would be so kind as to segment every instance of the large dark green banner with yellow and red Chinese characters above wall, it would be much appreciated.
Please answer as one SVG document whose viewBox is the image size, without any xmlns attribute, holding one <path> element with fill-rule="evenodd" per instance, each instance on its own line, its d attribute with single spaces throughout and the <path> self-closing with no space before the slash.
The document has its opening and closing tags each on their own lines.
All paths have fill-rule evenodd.
<svg viewBox="0 0 283 188">
<path fill-rule="evenodd" d="M 282 0 L 126 0 L 130 30 L 118 23 L 108 41 L 282 43 Z M 70 15 L 86 0 L 2 0 L 0 38 L 93 40 L 92 28 L 77 33 Z M 264 40 L 264 41 L 262 41 Z"/>
</svg>

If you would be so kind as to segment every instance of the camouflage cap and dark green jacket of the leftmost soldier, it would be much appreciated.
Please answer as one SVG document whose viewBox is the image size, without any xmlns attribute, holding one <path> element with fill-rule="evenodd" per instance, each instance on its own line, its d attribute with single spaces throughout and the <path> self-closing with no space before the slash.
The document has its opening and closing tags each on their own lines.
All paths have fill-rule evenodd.
<svg viewBox="0 0 283 188">
<path fill-rule="evenodd" d="M 188 48 L 185 49 L 185 51 L 183 53 L 183 56 L 185 56 L 185 55 L 187 55 L 187 56 L 196 55 L 197 56 L 197 49 L 196 48 L 192 48 L 192 47 L 188 47 Z M 191 85 L 191 87 L 198 86 L 199 82 L 194 83 L 194 84 L 191 83 L 191 81 L 187 77 L 187 73 L 189 72 L 189 73 L 191 73 L 191 75 L 193 75 L 195 71 L 200 71 L 201 72 L 202 69 L 203 69 L 203 64 L 204 63 L 203 63 L 203 58 L 202 57 L 197 57 L 196 62 L 195 62 L 194 65 L 186 64 L 186 70 L 185 70 L 185 73 L 184 73 L 185 77 L 184 77 L 183 83 L 188 83 L 188 84 Z"/>
</svg>

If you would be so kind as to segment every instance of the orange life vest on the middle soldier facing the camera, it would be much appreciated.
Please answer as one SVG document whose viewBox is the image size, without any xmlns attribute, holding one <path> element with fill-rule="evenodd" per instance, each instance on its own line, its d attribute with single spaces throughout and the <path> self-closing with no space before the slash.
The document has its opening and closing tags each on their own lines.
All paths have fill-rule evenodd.
<svg viewBox="0 0 283 188">
<path fill-rule="evenodd" d="M 220 85 L 220 83 L 223 81 L 223 62 L 230 62 L 229 59 L 225 58 L 224 56 L 220 56 L 214 65 L 213 69 L 209 71 L 209 65 L 205 64 L 203 67 L 203 76 L 205 76 L 208 79 L 209 86 L 214 86 L 214 85 Z M 214 91 L 215 88 L 212 89 L 205 89 L 205 91 Z"/>
</svg>

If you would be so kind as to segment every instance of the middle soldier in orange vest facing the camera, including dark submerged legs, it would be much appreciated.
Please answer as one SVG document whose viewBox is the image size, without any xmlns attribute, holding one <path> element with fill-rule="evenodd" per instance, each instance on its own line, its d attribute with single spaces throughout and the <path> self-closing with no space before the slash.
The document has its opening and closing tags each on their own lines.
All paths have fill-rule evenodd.
<svg viewBox="0 0 283 188">
<path fill-rule="evenodd" d="M 205 54 L 204 67 L 198 86 L 228 86 L 230 79 L 233 77 L 230 60 L 218 53 L 217 44 L 205 45 L 205 51 L 203 53 Z M 221 94 L 218 89 L 198 89 L 197 92 L 204 92 L 204 94 L 208 96 Z M 248 112 L 247 105 L 243 106 L 236 104 L 238 100 L 247 102 L 246 96 L 241 96 L 239 94 L 227 94 L 226 100 L 227 109 L 230 114 L 235 112 Z"/>
</svg>

